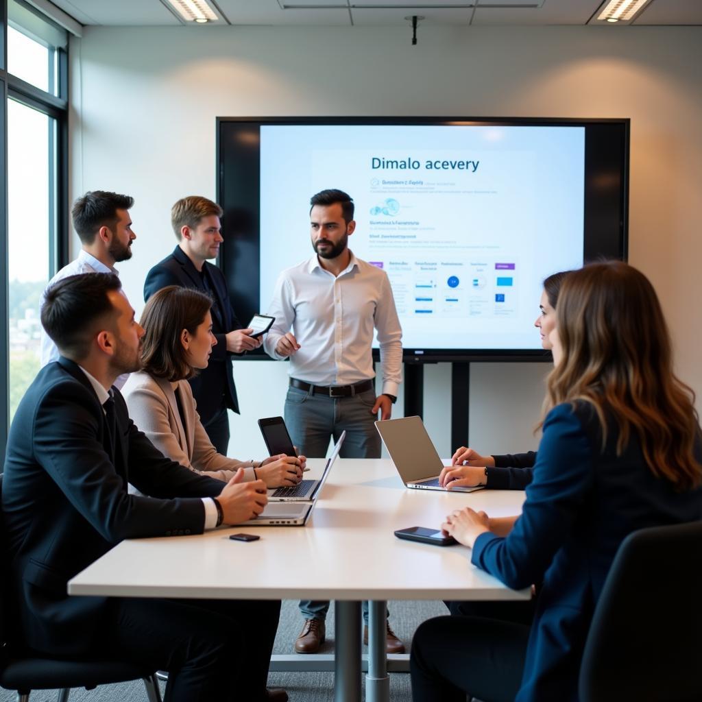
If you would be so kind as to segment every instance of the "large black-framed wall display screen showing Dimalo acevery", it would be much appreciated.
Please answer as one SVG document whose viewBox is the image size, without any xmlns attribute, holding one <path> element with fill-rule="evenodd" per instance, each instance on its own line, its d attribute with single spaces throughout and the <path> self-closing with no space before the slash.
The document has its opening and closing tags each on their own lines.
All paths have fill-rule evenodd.
<svg viewBox="0 0 702 702">
<path fill-rule="evenodd" d="M 549 274 L 626 251 L 627 121 L 218 121 L 223 267 L 242 322 L 313 255 L 310 196 L 354 199 L 406 355 L 543 355 Z"/>
</svg>

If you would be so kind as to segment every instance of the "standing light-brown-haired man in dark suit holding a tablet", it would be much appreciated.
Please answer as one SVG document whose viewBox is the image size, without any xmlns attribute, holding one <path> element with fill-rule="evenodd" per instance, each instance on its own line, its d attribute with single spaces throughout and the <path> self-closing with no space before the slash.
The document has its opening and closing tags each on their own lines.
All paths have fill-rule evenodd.
<svg viewBox="0 0 702 702">
<path fill-rule="evenodd" d="M 249 336 L 252 329 L 241 328 L 232 309 L 223 273 L 207 262 L 209 258 L 217 257 L 219 246 L 224 241 L 221 216 L 222 208 L 206 197 L 184 197 L 173 205 L 171 225 L 178 246 L 148 272 L 144 301 L 168 285 L 197 288 L 212 298 L 212 332 L 217 345 L 212 348 L 207 368 L 192 378 L 190 385 L 210 441 L 218 453 L 226 455 L 230 437 L 227 407 L 239 412 L 232 376 L 232 354 L 251 351 L 260 346 L 260 340 Z"/>
</svg>

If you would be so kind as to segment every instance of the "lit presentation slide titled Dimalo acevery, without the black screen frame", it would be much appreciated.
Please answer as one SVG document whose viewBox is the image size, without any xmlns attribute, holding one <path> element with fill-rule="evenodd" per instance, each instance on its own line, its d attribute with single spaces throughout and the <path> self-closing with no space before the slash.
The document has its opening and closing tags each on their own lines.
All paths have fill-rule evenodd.
<svg viewBox="0 0 702 702">
<path fill-rule="evenodd" d="M 583 126 L 263 125 L 260 304 L 313 255 L 309 201 L 353 198 L 406 350 L 538 349 L 541 281 L 583 264 Z"/>
</svg>

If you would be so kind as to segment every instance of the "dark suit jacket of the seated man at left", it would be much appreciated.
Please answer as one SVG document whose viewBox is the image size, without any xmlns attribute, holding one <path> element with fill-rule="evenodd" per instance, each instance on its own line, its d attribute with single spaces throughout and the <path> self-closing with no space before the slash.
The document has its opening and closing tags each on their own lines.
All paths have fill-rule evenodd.
<svg viewBox="0 0 702 702">
<path fill-rule="evenodd" d="M 10 429 L 2 486 L 7 577 L 29 647 L 80 654 L 100 636 L 104 597 L 67 581 L 124 538 L 199 534 L 222 483 L 164 458 L 113 388 L 117 441 L 79 366 L 61 358 L 29 386 Z M 127 492 L 131 482 L 143 494 Z M 197 498 L 196 498 L 197 497 Z"/>
</svg>

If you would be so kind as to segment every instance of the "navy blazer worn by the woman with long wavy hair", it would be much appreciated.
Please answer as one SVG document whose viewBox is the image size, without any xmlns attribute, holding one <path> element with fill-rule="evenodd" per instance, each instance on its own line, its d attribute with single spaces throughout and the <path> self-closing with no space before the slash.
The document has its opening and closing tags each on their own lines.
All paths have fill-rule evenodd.
<svg viewBox="0 0 702 702">
<path fill-rule="evenodd" d="M 702 519 L 702 489 L 676 491 L 653 475 L 637 439 L 620 456 L 616 439 L 610 430 L 602 449 L 587 404 L 552 409 L 521 517 L 507 538 L 488 533 L 475 541 L 472 562 L 510 588 L 543 581 L 517 702 L 577 699 L 592 614 L 625 536 Z M 699 440 L 696 458 L 702 461 Z"/>
</svg>

